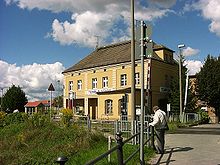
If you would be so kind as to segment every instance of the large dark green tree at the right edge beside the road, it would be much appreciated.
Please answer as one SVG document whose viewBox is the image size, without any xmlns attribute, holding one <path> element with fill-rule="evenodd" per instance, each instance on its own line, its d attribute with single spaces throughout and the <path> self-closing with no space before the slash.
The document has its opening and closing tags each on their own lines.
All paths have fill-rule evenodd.
<svg viewBox="0 0 220 165">
<path fill-rule="evenodd" d="M 197 91 L 199 98 L 206 101 L 208 105 L 215 108 L 215 113 L 219 117 L 220 107 L 220 56 L 208 55 L 201 71 L 197 76 Z"/>
</svg>

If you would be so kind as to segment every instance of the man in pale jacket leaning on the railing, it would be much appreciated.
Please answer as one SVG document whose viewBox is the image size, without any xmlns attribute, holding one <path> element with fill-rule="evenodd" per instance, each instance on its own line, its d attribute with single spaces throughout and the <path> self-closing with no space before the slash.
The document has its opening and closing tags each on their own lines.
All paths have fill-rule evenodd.
<svg viewBox="0 0 220 165">
<path fill-rule="evenodd" d="M 153 107 L 154 117 L 153 122 L 149 123 L 150 126 L 155 127 L 156 133 L 156 153 L 164 153 L 164 143 L 165 143 L 165 130 L 168 129 L 166 113 L 162 111 L 158 106 Z"/>
</svg>

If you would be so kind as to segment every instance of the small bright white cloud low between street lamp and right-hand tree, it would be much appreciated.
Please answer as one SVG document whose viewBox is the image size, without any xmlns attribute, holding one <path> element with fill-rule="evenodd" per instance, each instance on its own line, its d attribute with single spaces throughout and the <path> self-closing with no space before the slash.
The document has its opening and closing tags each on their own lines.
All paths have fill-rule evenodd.
<svg viewBox="0 0 220 165">
<path fill-rule="evenodd" d="M 201 67 L 203 66 L 201 61 L 196 60 L 186 60 L 184 61 L 184 65 L 186 65 L 189 75 L 195 75 L 201 70 Z"/>
</svg>

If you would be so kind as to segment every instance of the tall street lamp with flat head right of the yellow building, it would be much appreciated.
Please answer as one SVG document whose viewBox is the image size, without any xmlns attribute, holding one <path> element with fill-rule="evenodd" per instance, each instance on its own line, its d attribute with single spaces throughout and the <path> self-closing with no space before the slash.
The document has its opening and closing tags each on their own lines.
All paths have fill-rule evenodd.
<svg viewBox="0 0 220 165">
<path fill-rule="evenodd" d="M 182 103 L 182 49 L 185 47 L 184 44 L 179 44 L 179 88 L 180 88 L 180 122 L 183 122 L 183 103 Z"/>
</svg>

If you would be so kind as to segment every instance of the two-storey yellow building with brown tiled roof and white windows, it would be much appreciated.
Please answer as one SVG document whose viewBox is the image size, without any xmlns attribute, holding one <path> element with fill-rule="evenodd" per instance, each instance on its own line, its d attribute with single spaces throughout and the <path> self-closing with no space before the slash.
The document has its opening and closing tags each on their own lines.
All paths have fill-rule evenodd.
<svg viewBox="0 0 220 165">
<path fill-rule="evenodd" d="M 119 119 L 131 115 L 131 42 L 97 48 L 64 74 L 64 107 L 91 119 Z M 145 59 L 144 88 L 148 105 L 165 110 L 171 79 L 178 75 L 173 52 L 154 44 L 151 58 Z M 140 107 L 141 61 L 135 61 L 136 105 Z M 150 90 L 147 90 L 150 88 Z M 147 92 L 146 92 L 147 95 Z M 124 103 L 124 104 L 122 104 Z M 122 106 L 124 105 L 124 106 Z M 146 99 L 147 105 L 147 99 Z"/>
</svg>

